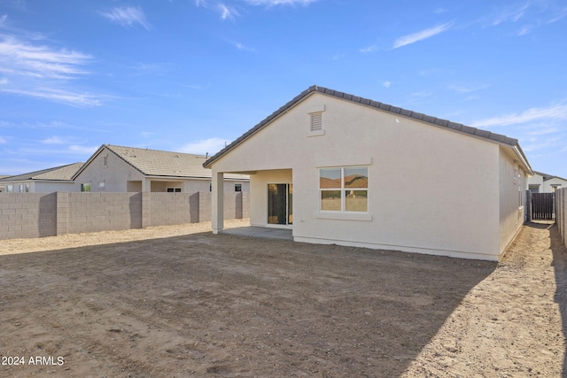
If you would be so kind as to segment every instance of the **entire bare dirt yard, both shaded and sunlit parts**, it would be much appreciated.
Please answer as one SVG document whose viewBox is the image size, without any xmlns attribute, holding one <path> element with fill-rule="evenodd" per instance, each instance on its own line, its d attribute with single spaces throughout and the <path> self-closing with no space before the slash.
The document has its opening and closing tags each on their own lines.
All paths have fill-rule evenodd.
<svg viewBox="0 0 567 378">
<path fill-rule="evenodd" d="M 567 252 L 549 224 L 498 265 L 209 230 L 0 241 L 0 376 L 565 371 Z"/>
</svg>

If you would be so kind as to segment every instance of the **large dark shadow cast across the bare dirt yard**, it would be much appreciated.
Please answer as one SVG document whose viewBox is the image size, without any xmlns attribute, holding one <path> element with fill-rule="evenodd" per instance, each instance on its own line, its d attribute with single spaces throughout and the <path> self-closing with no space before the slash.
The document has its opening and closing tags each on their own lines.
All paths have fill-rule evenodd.
<svg viewBox="0 0 567 378">
<path fill-rule="evenodd" d="M 1 256 L 0 353 L 65 364 L 0 375 L 399 376 L 495 267 L 209 233 Z"/>
</svg>

